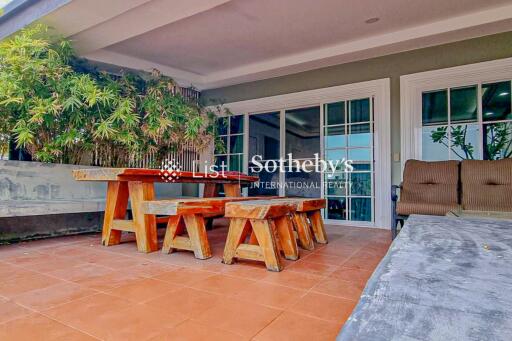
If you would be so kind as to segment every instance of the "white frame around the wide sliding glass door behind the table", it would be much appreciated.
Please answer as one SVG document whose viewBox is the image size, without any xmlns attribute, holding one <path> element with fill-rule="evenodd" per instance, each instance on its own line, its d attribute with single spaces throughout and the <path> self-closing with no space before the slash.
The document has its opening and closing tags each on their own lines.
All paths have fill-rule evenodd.
<svg viewBox="0 0 512 341">
<path fill-rule="evenodd" d="M 390 79 L 378 79 L 367 82 L 353 83 L 347 85 L 333 86 L 322 89 L 295 92 L 285 95 L 277 95 L 258 99 L 251 99 L 240 102 L 224 104 L 235 115 L 245 116 L 245 141 L 244 155 L 247 159 L 249 143 L 248 118 L 249 114 L 266 113 L 286 109 L 320 106 L 320 119 L 323 119 L 323 104 L 337 102 L 340 100 L 351 100 L 360 98 L 374 98 L 374 157 L 375 157 L 375 178 L 374 178 L 374 222 L 355 222 L 326 220 L 328 224 L 366 226 L 386 228 L 391 227 L 391 123 L 390 123 Z M 281 115 L 284 119 L 284 115 Z M 322 124 L 322 122 L 320 122 Z M 281 130 L 283 131 L 283 130 Z M 322 134 L 323 135 L 323 134 Z M 283 143 L 281 139 L 281 143 Z M 321 139 L 321 150 L 323 155 L 323 141 Z M 244 171 L 247 172 L 248 160 L 245 160 Z M 322 190 L 323 195 L 323 190 Z"/>
</svg>

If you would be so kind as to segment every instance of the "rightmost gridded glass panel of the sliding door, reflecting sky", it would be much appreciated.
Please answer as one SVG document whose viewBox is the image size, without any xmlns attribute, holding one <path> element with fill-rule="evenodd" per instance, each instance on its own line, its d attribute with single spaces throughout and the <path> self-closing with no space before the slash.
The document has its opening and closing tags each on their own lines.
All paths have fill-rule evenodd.
<svg viewBox="0 0 512 341">
<path fill-rule="evenodd" d="M 372 99 L 355 99 L 324 105 L 324 158 L 351 160 L 353 172 L 324 174 L 328 199 L 325 218 L 372 222 L 374 220 L 374 155 Z M 340 184 L 345 183 L 345 186 Z"/>
</svg>

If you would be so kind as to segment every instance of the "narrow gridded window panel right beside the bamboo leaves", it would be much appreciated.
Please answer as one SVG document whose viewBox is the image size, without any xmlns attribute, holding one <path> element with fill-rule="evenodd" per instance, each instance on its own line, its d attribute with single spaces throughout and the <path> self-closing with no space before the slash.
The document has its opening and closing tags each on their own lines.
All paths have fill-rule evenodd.
<svg viewBox="0 0 512 341">
<path fill-rule="evenodd" d="M 244 115 L 220 117 L 217 134 L 221 143 L 214 152 L 215 164 L 225 165 L 226 170 L 243 172 L 244 160 Z"/>
</svg>

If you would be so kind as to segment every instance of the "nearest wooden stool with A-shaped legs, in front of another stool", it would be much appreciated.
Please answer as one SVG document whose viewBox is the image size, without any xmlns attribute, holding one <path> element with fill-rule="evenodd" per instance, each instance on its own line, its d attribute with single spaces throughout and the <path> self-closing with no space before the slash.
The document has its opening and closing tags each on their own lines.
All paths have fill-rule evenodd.
<svg viewBox="0 0 512 341">
<path fill-rule="evenodd" d="M 225 216 L 230 218 L 224 248 L 225 264 L 234 258 L 264 261 L 270 271 L 281 271 L 279 249 L 285 258 L 297 260 L 299 252 L 289 215 L 297 205 L 274 200 L 232 202 L 226 204 Z M 249 238 L 250 233 L 253 238 Z"/>
</svg>

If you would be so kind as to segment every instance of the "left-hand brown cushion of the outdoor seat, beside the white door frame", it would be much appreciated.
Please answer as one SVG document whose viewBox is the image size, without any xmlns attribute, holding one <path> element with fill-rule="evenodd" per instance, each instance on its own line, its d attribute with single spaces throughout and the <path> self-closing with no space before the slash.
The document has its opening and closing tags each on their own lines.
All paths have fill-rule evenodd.
<svg viewBox="0 0 512 341">
<path fill-rule="evenodd" d="M 458 161 L 408 160 L 397 213 L 445 215 L 458 206 L 458 183 Z"/>
</svg>

